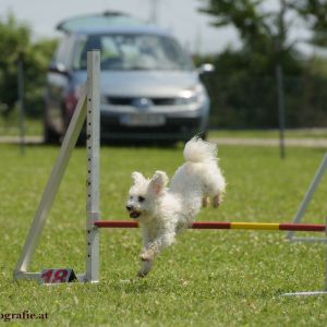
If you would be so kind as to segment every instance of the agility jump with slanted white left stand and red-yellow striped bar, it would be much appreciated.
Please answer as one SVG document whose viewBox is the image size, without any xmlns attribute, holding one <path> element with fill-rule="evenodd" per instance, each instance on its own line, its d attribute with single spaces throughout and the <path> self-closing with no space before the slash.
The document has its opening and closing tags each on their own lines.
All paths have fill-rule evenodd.
<svg viewBox="0 0 327 327">
<path fill-rule="evenodd" d="M 53 166 L 49 181 L 45 187 L 39 206 L 31 225 L 23 251 L 14 269 L 14 280 L 39 279 L 41 272 L 29 272 L 28 268 L 41 231 L 45 227 L 47 215 L 59 190 L 60 182 L 68 166 L 72 150 L 76 144 L 86 117 L 86 271 L 77 274 L 80 282 L 98 282 L 99 280 L 99 229 L 101 228 L 137 228 L 137 221 L 101 220 L 99 214 L 99 125 L 100 125 L 100 95 L 99 95 L 100 53 L 98 50 L 87 53 L 87 82 L 82 89 L 81 98 L 76 105 L 72 121 L 64 136 L 59 156 Z M 325 232 L 326 225 L 312 223 L 266 223 L 266 222 L 193 222 L 192 229 L 230 229 L 230 230 L 267 230 L 267 231 L 301 231 Z M 325 238 L 327 240 L 327 238 Z M 56 270 L 69 269 L 52 269 Z M 53 274 L 55 274 L 53 272 Z M 55 274 L 55 275 L 56 275 Z M 66 280 L 68 281 L 68 280 Z M 327 286 L 327 265 L 326 265 Z M 326 293 L 326 292 L 310 292 Z M 306 293 L 295 293 L 306 294 Z"/>
</svg>

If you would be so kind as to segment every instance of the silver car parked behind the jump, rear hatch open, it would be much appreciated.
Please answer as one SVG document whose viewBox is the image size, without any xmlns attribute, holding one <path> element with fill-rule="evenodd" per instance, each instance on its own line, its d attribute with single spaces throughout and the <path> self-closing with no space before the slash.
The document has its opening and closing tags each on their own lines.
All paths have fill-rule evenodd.
<svg viewBox="0 0 327 327">
<path fill-rule="evenodd" d="M 47 76 L 46 142 L 59 141 L 66 131 L 90 49 L 101 51 L 101 140 L 205 137 L 209 98 L 199 74 L 213 66 L 195 69 L 179 43 L 158 27 L 131 24 L 130 17 L 122 22 L 124 16 L 112 13 L 96 17 L 111 23 L 92 24 L 88 17 L 87 24 L 59 25 L 64 35 Z"/>
</svg>

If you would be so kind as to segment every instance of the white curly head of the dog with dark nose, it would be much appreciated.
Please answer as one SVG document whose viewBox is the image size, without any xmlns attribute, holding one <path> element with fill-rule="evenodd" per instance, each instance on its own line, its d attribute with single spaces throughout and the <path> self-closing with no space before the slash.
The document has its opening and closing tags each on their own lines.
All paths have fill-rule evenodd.
<svg viewBox="0 0 327 327">
<path fill-rule="evenodd" d="M 126 202 L 126 210 L 131 218 L 154 216 L 157 199 L 165 194 L 168 177 L 164 171 L 156 171 L 152 179 L 146 179 L 141 172 L 132 173 L 133 185 Z"/>
</svg>

